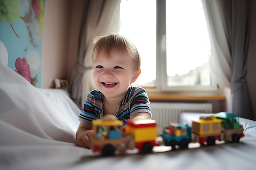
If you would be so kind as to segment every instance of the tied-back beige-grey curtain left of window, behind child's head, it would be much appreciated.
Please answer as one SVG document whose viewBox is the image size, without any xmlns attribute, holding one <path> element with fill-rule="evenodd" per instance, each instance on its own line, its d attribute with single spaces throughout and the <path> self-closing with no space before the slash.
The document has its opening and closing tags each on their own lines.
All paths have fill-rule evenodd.
<svg viewBox="0 0 256 170">
<path fill-rule="evenodd" d="M 119 32 L 121 0 L 84 0 L 79 33 L 78 56 L 70 83 L 71 97 L 82 108 L 87 94 L 94 89 L 92 80 L 92 38 Z"/>
</svg>

